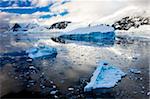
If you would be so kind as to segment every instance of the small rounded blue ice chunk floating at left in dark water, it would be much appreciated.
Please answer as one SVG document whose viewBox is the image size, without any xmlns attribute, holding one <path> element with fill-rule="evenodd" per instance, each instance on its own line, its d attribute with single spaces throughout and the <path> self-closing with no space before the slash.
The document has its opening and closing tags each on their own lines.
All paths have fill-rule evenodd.
<svg viewBox="0 0 150 99">
<path fill-rule="evenodd" d="M 26 50 L 28 56 L 32 59 L 35 58 L 54 58 L 57 55 L 56 48 L 49 46 L 39 46 L 33 47 L 31 49 Z"/>
</svg>

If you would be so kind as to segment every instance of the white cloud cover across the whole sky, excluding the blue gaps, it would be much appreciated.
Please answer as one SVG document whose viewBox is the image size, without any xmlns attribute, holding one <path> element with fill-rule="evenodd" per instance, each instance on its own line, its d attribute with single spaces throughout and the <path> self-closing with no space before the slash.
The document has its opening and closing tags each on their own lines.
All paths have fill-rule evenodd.
<svg viewBox="0 0 150 99">
<path fill-rule="evenodd" d="M 39 8 L 53 4 L 48 9 L 51 11 L 35 11 L 30 14 L 14 14 L 0 12 L 1 23 L 13 23 L 13 22 L 38 22 L 44 25 L 50 25 L 58 21 L 73 21 L 75 23 L 89 24 L 100 20 L 101 18 L 110 17 L 114 13 L 123 11 L 125 8 L 136 7 L 137 9 L 148 9 L 149 0 L 71 0 L 71 2 L 62 4 L 66 0 L 28 0 L 30 6 L 20 7 L 18 2 L 16 5 L 11 5 L 12 1 L 18 0 L 2 0 L 10 3 L 10 8 Z M 0 1 L 0 3 L 2 2 Z M 21 0 L 26 2 L 27 0 Z M 15 6 L 15 7 L 14 7 Z M 6 8 L 6 7 L 4 7 Z M 131 9 L 132 10 L 132 9 Z M 63 11 L 68 11 L 65 16 L 59 15 Z M 129 9 L 130 11 L 130 9 Z M 132 11 L 131 11 L 132 12 Z M 42 19 L 40 16 L 58 14 L 55 17 L 49 19 Z"/>
</svg>

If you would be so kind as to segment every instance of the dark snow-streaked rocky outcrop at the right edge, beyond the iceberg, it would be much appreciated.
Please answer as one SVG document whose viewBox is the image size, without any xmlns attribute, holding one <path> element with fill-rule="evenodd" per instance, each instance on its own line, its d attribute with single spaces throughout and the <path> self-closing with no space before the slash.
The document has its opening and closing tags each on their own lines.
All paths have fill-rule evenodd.
<svg viewBox="0 0 150 99">
<path fill-rule="evenodd" d="M 150 25 L 150 17 L 124 17 L 115 22 L 112 27 L 115 30 L 129 30 L 131 27 L 138 28 L 141 25 Z"/>
</svg>

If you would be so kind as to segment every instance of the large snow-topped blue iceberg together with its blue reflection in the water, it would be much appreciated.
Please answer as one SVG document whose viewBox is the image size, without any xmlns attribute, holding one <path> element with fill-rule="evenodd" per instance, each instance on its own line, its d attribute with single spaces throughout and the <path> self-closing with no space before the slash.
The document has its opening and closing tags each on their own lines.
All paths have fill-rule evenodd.
<svg viewBox="0 0 150 99">
<path fill-rule="evenodd" d="M 115 32 L 111 26 L 99 25 L 66 32 L 59 36 L 58 39 L 66 42 L 78 41 L 79 43 L 85 42 L 92 45 L 107 46 L 114 44 Z"/>
</svg>

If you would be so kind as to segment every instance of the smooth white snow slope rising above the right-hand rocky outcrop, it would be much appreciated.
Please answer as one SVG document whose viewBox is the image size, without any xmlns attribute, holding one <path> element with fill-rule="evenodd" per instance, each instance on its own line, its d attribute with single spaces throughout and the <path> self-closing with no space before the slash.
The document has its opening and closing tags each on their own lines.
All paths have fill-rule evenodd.
<svg viewBox="0 0 150 99">
<path fill-rule="evenodd" d="M 136 7 L 136 6 L 128 6 L 123 9 L 120 9 L 116 12 L 114 12 L 111 15 L 108 15 L 106 17 L 100 18 L 93 22 L 92 24 L 98 24 L 98 23 L 105 23 L 105 24 L 110 24 L 112 25 L 116 21 L 121 20 L 124 17 L 127 16 L 141 16 L 141 17 L 149 17 L 150 16 L 150 8 L 142 8 L 142 7 Z"/>
</svg>

